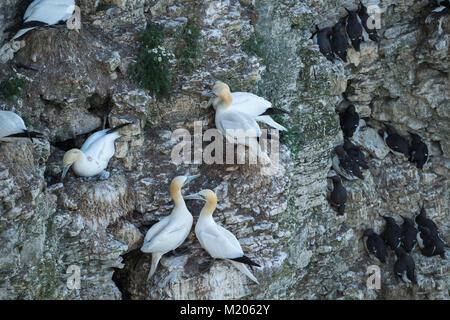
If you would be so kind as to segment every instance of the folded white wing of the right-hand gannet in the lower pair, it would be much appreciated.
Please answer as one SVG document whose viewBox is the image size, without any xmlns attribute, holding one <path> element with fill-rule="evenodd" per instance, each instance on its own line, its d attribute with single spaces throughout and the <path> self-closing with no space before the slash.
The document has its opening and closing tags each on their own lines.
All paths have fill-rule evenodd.
<svg viewBox="0 0 450 320">
<path fill-rule="evenodd" d="M 208 251 L 213 258 L 229 259 L 244 255 L 240 245 L 238 247 L 236 246 L 235 241 L 237 240 L 234 241 L 230 239 L 228 235 L 225 235 L 225 233 L 221 232 L 218 228 L 204 229 L 198 232 L 197 238 L 202 247 Z"/>
</svg>

